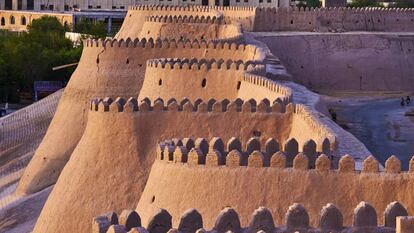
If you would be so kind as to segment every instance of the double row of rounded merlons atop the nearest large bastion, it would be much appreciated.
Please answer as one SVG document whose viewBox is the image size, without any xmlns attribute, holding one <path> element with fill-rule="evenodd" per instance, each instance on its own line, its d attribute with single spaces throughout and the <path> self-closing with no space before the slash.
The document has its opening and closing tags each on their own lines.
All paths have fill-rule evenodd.
<svg viewBox="0 0 414 233">
<path fill-rule="evenodd" d="M 321 149 L 319 149 L 321 148 Z M 358 171 L 351 155 L 340 157 L 335 161 L 331 142 L 325 138 L 320 145 L 309 140 L 302 148 L 297 141 L 290 138 L 278 142 L 274 138 L 252 137 L 242 143 L 237 137 L 225 141 L 220 137 L 210 140 L 205 138 L 173 138 L 157 144 L 157 160 L 206 167 L 263 167 L 298 170 L 313 169 L 318 172 L 372 174 L 387 173 L 406 176 L 414 173 L 414 156 L 409 162 L 409 170 L 402 171 L 401 161 L 391 156 L 385 162 L 384 169 L 374 156 L 367 157 Z M 293 171 L 292 171 L 293 172 Z"/>
</svg>

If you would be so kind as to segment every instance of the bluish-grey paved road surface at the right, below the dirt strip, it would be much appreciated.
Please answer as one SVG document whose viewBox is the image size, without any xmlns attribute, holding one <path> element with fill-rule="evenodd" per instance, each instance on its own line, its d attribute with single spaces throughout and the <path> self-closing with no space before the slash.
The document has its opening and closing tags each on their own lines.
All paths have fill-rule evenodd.
<svg viewBox="0 0 414 233">
<path fill-rule="evenodd" d="M 372 100 L 350 105 L 339 116 L 347 118 L 348 131 L 361 140 L 382 163 L 396 155 L 404 170 L 414 154 L 414 123 L 404 113 L 409 107 L 401 107 L 398 99 Z"/>
</svg>

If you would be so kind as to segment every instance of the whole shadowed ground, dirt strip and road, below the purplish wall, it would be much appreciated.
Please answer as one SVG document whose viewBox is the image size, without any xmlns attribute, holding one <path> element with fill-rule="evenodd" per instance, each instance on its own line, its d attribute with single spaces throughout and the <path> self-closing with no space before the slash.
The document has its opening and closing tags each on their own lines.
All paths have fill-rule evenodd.
<svg viewBox="0 0 414 233">
<path fill-rule="evenodd" d="M 414 154 L 414 117 L 405 116 L 414 103 L 402 107 L 404 92 L 324 92 L 322 98 L 337 114 L 337 123 L 361 140 L 384 164 L 391 155 L 408 169 Z"/>
</svg>

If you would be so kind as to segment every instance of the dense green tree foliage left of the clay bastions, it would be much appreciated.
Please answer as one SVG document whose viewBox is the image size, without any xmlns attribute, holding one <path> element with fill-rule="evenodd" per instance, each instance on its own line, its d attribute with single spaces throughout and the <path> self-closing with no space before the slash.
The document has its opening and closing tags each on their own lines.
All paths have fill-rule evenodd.
<svg viewBox="0 0 414 233">
<path fill-rule="evenodd" d="M 68 81 L 74 68 L 52 68 L 79 61 L 82 48 L 74 47 L 65 31 L 55 17 L 44 16 L 34 20 L 27 32 L 1 32 L 0 87 L 31 91 L 36 80 Z"/>
</svg>

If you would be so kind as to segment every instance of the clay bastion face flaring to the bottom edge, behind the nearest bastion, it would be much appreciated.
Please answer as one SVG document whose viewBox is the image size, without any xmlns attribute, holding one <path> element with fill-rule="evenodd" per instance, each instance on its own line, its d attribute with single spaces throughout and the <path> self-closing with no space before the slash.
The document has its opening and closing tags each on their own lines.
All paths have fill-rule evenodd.
<svg viewBox="0 0 414 233">
<path fill-rule="evenodd" d="M 223 140 L 236 136 L 247 141 L 259 131 L 265 138 L 281 141 L 290 130 L 291 114 L 140 109 L 89 112 L 85 133 L 50 194 L 34 233 L 88 232 L 91 219 L 99 213 L 133 209 L 160 140 L 221 135 Z"/>
</svg>

